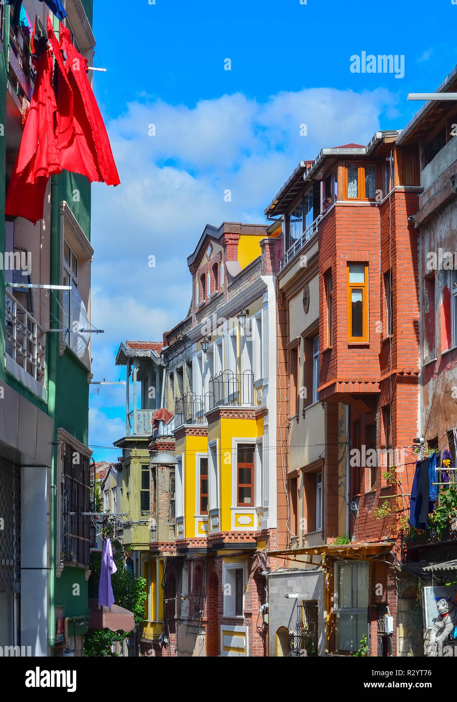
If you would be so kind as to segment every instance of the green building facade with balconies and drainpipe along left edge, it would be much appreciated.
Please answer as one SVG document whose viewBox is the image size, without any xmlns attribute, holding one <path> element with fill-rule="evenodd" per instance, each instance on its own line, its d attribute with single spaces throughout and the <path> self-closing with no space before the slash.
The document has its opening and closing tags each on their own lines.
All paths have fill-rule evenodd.
<svg viewBox="0 0 457 702">
<path fill-rule="evenodd" d="M 32 0 L 23 5 L 30 18 Z M 67 26 L 92 65 L 91 0 L 67 0 Z M 44 3 L 40 19 L 46 27 Z M 5 193 L 34 72 L 28 37 L 0 5 L 0 647 L 82 655 L 93 511 L 88 449 L 90 345 L 67 333 L 75 310 L 90 326 L 91 184 L 52 176 L 44 218 L 5 218 Z M 52 16 L 52 15 L 51 15 Z M 58 29 L 58 20 L 53 17 Z M 27 272 L 21 253 L 29 256 Z M 13 269 L 13 270 L 12 270 Z M 72 285 L 68 291 L 8 286 Z M 55 330 L 55 331 L 53 331 Z M 89 335 L 88 335 L 89 336 Z M 3 521 L 1 521 L 3 520 Z M 3 528 L 1 528 L 3 525 Z M 3 560 L 2 560 L 3 559 Z"/>
</svg>

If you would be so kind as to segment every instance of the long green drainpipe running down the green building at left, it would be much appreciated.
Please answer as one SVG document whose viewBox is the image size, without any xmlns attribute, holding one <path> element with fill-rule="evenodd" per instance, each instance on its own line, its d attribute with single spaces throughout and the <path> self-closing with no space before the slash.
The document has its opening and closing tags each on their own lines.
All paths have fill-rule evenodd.
<svg viewBox="0 0 457 702">
<path fill-rule="evenodd" d="M 58 176 L 51 176 L 51 235 L 50 235 L 50 282 L 60 283 L 60 241 L 59 241 L 59 192 Z M 55 295 L 50 296 L 51 315 L 49 326 L 58 329 L 56 319 L 60 319 L 58 300 Z M 53 655 L 55 645 L 55 573 L 57 568 L 57 426 L 55 425 L 55 398 L 57 381 L 57 364 L 59 357 L 59 334 L 48 334 L 48 414 L 53 419 L 53 457 L 51 468 L 51 569 L 49 577 L 49 615 L 48 615 L 48 642 Z"/>
</svg>

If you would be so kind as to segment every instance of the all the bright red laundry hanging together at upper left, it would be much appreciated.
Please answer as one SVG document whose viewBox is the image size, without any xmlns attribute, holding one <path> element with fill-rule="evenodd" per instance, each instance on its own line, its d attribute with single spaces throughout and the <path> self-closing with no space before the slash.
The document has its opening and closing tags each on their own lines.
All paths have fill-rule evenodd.
<svg viewBox="0 0 457 702">
<path fill-rule="evenodd" d="M 30 41 L 37 80 L 5 206 L 7 215 L 21 216 L 32 223 L 43 218 L 46 186 L 53 173 L 65 168 L 91 182 L 120 183 L 105 124 L 86 75 L 86 59 L 74 48 L 68 29 L 60 25 L 58 43 L 49 16 L 47 22 L 46 38 L 36 18 Z M 62 51 L 67 56 L 65 63 Z M 58 98 L 52 85 L 53 70 L 57 72 Z"/>
</svg>

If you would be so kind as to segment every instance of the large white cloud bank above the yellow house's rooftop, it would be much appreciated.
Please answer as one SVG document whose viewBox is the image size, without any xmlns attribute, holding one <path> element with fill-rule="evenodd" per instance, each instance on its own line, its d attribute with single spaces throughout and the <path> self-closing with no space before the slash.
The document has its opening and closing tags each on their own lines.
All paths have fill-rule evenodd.
<svg viewBox="0 0 457 702">
<path fill-rule="evenodd" d="M 105 329 L 92 339 L 96 379 L 124 379 L 114 365 L 121 341 L 161 340 L 185 317 L 186 258 L 206 223 L 263 222 L 265 206 L 300 160 L 314 159 L 322 147 L 368 143 L 397 103 L 397 95 L 379 88 L 311 88 L 264 103 L 240 93 L 194 107 L 147 95 L 129 103 L 107 125 L 121 185 L 93 187 L 91 309 L 93 324 Z M 155 136 L 148 135 L 150 124 Z M 305 137 L 300 124 L 307 125 Z M 226 189 L 231 202 L 224 201 Z M 155 267 L 147 265 L 149 256 Z M 124 392 L 109 388 L 91 400 L 91 435 L 100 434 L 95 443 L 104 445 L 122 435 L 125 422 Z M 109 428 L 104 402 L 119 411 Z"/>
</svg>

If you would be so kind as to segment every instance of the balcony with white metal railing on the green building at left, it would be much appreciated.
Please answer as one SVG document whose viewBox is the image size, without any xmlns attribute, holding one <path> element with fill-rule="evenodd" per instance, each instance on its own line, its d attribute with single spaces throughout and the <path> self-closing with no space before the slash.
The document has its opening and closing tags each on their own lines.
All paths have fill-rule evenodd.
<svg viewBox="0 0 457 702">
<path fill-rule="evenodd" d="M 6 370 L 46 401 L 46 332 L 25 307 L 5 291 Z"/>
</svg>

